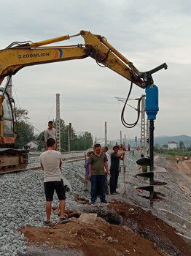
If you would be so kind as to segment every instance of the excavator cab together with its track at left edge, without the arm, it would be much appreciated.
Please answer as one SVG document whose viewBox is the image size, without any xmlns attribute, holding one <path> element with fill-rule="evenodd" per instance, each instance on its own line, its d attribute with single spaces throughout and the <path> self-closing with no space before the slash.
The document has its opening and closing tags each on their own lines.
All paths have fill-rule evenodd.
<svg viewBox="0 0 191 256">
<path fill-rule="evenodd" d="M 15 118 L 13 99 L 0 89 L 0 174 L 26 170 L 28 154 L 25 149 L 15 149 Z"/>
</svg>

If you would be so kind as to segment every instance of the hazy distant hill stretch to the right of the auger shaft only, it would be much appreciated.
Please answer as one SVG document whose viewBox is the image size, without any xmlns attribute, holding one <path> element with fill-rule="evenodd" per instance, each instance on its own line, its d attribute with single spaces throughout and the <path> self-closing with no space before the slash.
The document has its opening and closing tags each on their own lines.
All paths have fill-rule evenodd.
<svg viewBox="0 0 191 256">
<path fill-rule="evenodd" d="M 175 141 L 179 143 L 183 141 L 186 146 L 191 146 L 191 137 L 187 135 L 178 135 L 178 136 L 159 136 L 155 137 L 155 144 L 164 145 L 170 141 Z"/>
</svg>

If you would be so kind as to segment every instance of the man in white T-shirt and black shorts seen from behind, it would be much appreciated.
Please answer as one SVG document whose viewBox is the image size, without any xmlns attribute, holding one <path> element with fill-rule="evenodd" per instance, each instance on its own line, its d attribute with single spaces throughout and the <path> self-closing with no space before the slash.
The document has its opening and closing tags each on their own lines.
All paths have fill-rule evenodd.
<svg viewBox="0 0 191 256">
<path fill-rule="evenodd" d="M 65 200 L 66 191 L 63 186 L 63 180 L 61 179 L 61 153 L 55 151 L 55 140 L 49 138 L 47 140 L 47 151 L 40 155 L 40 164 L 42 170 L 44 170 L 44 192 L 46 196 L 46 214 L 47 220 L 44 221 L 44 225 L 50 226 L 50 215 L 52 209 L 52 200 L 54 192 L 58 195 L 60 200 L 60 214 L 61 223 L 69 222 L 69 219 L 64 217 L 65 214 Z"/>
</svg>

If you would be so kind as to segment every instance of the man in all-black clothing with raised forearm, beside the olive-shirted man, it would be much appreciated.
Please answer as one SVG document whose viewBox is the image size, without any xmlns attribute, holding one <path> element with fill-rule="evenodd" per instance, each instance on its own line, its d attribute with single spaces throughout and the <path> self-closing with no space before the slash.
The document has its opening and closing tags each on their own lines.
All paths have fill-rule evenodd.
<svg viewBox="0 0 191 256">
<path fill-rule="evenodd" d="M 110 167 L 110 181 L 109 181 L 109 186 L 110 186 L 110 194 L 118 194 L 116 191 L 117 189 L 117 182 L 118 182 L 118 177 L 120 173 L 120 160 L 123 160 L 125 157 L 125 152 L 122 152 L 121 154 L 118 154 L 119 147 L 114 146 L 113 147 L 113 153 L 111 154 L 111 167 Z"/>
</svg>

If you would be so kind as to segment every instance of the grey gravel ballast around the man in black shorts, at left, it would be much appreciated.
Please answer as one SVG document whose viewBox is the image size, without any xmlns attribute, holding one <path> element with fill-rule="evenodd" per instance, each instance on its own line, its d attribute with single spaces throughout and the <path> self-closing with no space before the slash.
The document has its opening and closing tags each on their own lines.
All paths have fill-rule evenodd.
<svg viewBox="0 0 191 256">
<path fill-rule="evenodd" d="M 72 155 L 71 155 L 72 156 Z M 74 157 L 76 154 L 74 154 Z M 30 159 L 31 167 L 39 165 L 39 157 Z M 85 196 L 83 184 L 75 177 L 77 171 L 83 171 L 83 161 L 63 164 L 63 176 L 69 179 L 72 191 L 66 194 L 66 207 L 74 208 L 77 202 L 74 195 Z M 14 256 L 26 249 L 26 239 L 17 232 L 19 227 L 34 225 L 42 227 L 45 218 L 44 205 L 44 172 L 42 170 L 28 170 L 20 173 L 1 175 L 0 187 L 0 255 Z M 55 195 L 52 205 L 58 205 Z M 52 215 L 52 222 L 58 217 Z"/>
</svg>

